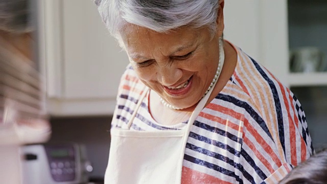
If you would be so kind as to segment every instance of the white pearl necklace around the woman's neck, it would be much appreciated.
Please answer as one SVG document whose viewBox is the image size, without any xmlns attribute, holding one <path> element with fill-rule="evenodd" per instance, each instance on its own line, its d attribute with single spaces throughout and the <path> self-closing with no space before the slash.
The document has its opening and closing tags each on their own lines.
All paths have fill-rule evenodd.
<svg viewBox="0 0 327 184">
<path fill-rule="evenodd" d="M 224 58 L 224 49 L 222 47 L 222 38 L 219 38 L 219 50 L 220 50 L 220 53 L 219 53 L 219 61 L 218 61 L 218 67 L 217 67 L 217 71 L 216 71 L 216 74 L 214 76 L 214 79 L 213 81 L 211 82 L 211 84 L 209 85 L 208 89 L 205 91 L 204 95 L 202 96 L 202 98 L 209 92 L 209 90 L 215 85 L 220 73 L 221 73 L 221 63 L 224 63 L 224 61 L 222 61 L 222 57 Z M 201 99 L 202 99 L 201 98 Z M 178 107 L 175 107 L 171 104 L 169 104 L 168 102 L 166 102 L 164 99 L 162 99 L 160 97 L 160 102 L 165 105 L 166 107 L 170 108 L 170 109 L 173 109 L 173 110 L 181 110 L 181 109 L 184 109 L 184 108 L 178 108 Z"/>
</svg>

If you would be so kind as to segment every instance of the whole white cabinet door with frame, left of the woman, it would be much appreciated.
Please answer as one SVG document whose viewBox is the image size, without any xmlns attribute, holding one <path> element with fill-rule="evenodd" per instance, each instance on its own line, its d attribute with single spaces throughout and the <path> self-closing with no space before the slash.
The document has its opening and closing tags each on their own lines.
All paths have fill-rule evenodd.
<svg viewBox="0 0 327 184">
<path fill-rule="evenodd" d="M 109 35 L 96 5 L 80 0 L 39 1 L 50 114 L 112 114 L 128 58 Z"/>
</svg>

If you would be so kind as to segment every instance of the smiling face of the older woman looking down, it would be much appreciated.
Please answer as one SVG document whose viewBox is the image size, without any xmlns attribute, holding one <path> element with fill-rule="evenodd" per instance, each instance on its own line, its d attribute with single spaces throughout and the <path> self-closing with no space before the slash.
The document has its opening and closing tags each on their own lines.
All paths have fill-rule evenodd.
<svg viewBox="0 0 327 184">
<path fill-rule="evenodd" d="M 219 37 L 206 28 L 163 34 L 129 25 L 121 36 L 138 78 L 176 107 L 196 105 L 214 78 Z"/>
</svg>

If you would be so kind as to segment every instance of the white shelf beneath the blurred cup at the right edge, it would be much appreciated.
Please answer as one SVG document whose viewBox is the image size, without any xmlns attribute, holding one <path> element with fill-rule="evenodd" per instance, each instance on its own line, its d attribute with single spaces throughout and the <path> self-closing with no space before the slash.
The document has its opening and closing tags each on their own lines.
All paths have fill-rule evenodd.
<svg viewBox="0 0 327 184">
<path fill-rule="evenodd" d="M 321 73 L 291 73 L 289 85 L 295 86 L 327 86 L 327 72 Z"/>
</svg>

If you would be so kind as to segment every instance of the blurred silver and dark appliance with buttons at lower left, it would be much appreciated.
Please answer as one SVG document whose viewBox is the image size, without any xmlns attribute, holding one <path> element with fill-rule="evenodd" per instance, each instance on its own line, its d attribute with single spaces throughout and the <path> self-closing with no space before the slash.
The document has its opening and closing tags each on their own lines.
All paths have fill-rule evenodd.
<svg viewBox="0 0 327 184">
<path fill-rule="evenodd" d="M 39 144 L 21 147 L 23 184 L 87 183 L 92 166 L 82 144 Z"/>
</svg>

